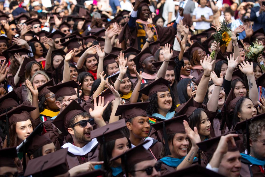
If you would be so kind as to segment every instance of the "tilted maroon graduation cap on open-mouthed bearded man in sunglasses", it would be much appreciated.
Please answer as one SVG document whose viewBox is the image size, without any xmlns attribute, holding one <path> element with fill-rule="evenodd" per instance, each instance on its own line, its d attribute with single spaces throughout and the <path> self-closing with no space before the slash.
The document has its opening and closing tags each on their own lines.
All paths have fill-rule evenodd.
<svg viewBox="0 0 265 177">
<path fill-rule="evenodd" d="M 72 101 L 52 120 L 52 123 L 67 136 L 69 134 L 67 129 L 69 128 L 70 121 L 80 113 L 86 113 L 86 111 L 76 101 Z"/>
</svg>

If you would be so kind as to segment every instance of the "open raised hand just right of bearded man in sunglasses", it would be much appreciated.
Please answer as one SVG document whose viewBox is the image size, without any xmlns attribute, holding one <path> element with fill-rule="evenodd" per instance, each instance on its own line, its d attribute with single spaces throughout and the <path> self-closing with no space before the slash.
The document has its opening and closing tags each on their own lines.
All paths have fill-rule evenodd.
<svg viewBox="0 0 265 177">
<path fill-rule="evenodd" d="M 104 105 L 104 97 L 99 96 L 99 103 L 97 104 L 97 99 L 94 99 L 94 110 L 89 109 L 89 114 L 92 118 L 102 118 L 104 110 L 107 108 L 109 101 Z"/>
</svg>

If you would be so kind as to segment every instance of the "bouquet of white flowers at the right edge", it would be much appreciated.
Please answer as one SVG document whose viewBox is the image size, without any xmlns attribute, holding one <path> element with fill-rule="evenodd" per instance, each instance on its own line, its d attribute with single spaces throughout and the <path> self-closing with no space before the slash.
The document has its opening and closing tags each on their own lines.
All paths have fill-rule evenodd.
<svg viewBox="0 0 265 177">
<path fill-rule="evenodd" d="M 246 54 L 250 60 L 258 59 L 260 54 L 263 54 L 264 47 L 262 44 L 258 43 L 258 41 L 254 42 L 253 45 L 248 48 L 250 51 Z M 263 62 L 260 62 L 260 67 L 263 71 L 265 71 L 265 66 Z"/>
</svg>

